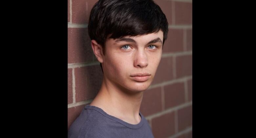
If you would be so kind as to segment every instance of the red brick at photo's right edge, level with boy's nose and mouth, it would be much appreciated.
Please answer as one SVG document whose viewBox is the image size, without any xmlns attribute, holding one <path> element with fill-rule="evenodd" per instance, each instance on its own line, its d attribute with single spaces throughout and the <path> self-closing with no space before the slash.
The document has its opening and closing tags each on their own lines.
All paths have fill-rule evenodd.
<svg viewBox="0 0 256 138">
<path fill-rule="evenodd" d="M 176 77 L 192 75 L 192 55 L 176 57 Z"/>
</svg>

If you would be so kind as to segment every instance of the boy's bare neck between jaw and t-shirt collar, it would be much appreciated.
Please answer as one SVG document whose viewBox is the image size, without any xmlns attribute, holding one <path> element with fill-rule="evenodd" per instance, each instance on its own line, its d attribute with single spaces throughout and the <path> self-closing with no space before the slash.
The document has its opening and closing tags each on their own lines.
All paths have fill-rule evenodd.
<svg viewBox="0 0 256 138">
<path fill-rule="evenodd" d="M 143 98 L 142 92 L 131 92 L 108 83 L 103 78 L 101 88 L 90 105 L 101 108 L 106 113 L 131 124 L 140 122 L 139 108 Z"/>
</svg>

